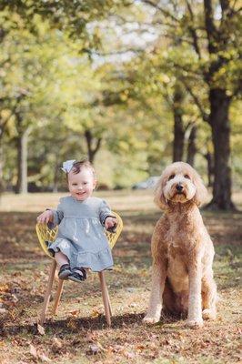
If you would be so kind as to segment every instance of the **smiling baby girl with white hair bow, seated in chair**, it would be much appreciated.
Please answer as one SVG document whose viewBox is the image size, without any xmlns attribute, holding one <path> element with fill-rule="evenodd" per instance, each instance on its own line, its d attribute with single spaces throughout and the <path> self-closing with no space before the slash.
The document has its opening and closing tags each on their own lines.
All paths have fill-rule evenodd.
<svg viewBox="0 0 242 364">
<path fill-rule="evenodd" d="M 112 268 L 113 258 L 104 232 L 116 227 L 106 201 L 92 197 L 96 187 L 95 170 L 87 160 L 67 160 L 62 168 L 67 175 L 70 196 L 60 198 L 56 210 L 46 209 L 38 223 L 58 227 L 57 237 L 48 244 L 59 266 L 58 277 L 80 282 L 86 268 L 95 272 Z"/>
</svg>

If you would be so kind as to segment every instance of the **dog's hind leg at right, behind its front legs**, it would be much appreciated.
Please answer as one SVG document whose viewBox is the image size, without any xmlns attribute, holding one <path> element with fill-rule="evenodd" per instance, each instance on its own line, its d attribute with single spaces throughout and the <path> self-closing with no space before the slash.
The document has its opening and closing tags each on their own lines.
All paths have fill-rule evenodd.
<svg viewBox="0 0 242 364">
<path fill-rule="evenodd" d="M 217 286 L 213 278 L 213 273 L 202 278 L 202 305 L 203 319 L 216 319 L 217 315 Z"/>
</svg>

